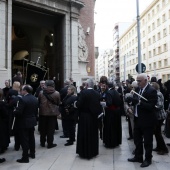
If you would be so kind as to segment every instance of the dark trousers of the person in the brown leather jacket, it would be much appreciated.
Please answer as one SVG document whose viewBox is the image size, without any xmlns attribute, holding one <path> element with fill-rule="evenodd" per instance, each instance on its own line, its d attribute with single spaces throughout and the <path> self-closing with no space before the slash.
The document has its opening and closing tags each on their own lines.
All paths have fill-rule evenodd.
<svg viewBox="0 0 170 170">
<path fill-rule="evenodd" d="M 52 145 L 54 141 L 54 132 L 56 127 L 56 116 L 40 116 L 40 143 Z M 47 138 L 47 139 L 46 139 Z"/>
</svg>

